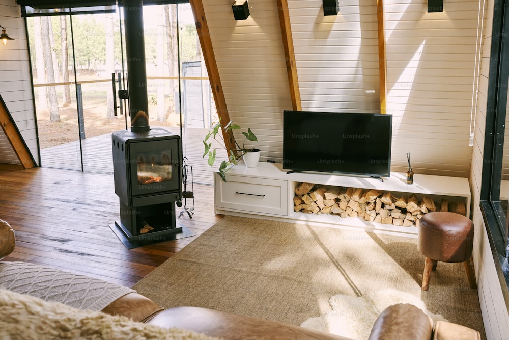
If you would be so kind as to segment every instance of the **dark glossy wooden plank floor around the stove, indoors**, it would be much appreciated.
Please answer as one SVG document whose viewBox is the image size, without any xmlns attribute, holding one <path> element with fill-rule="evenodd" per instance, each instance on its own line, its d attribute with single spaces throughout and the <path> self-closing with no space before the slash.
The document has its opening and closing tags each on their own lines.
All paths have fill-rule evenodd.
<svg viewBox="0 0 509 340">
<path fill-rule="evenodd" d="M 16 234 L 16 248 L 4 261 L 29 261 L 132 287 L 222 218 L 214 214 L 212 186 L 195 184 L 194 196 L 193 218 L 185 214 L 177 222 L 195 236 L 128 250 L 109 228 L 120 215 L 112 174 L 0 164 L 0 219 Z"/>
</svg>

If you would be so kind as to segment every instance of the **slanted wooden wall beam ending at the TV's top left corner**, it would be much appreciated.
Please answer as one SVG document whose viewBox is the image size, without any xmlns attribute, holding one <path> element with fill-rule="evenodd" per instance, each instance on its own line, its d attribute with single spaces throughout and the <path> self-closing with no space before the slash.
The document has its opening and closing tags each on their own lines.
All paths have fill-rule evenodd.
<svg viewBox="0 0 509 340">
<path fill-rule="evenodd" d="M 285 61 L 287 65 L 288 83 L 290 84 L 292 107 L 293 110 L 300 111 L 302 110 L 302 104 L 300 102 L 299 80 L 297 76 L 297 66 L 295 64 L 290 15 L 288 14 L 288 1 L 277 0 L 277 9 L 279 13 L 279 25 L 281 26 L 283 48 L 285 49 Z"/>
</svg>

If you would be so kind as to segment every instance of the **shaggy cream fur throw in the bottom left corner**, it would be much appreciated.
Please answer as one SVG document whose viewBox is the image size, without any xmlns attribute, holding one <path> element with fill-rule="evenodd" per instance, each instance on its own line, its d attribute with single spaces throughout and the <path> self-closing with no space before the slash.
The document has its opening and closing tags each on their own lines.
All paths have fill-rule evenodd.
<svg viewBox="0 0 509 340">
<path fill-rule="evenodd" d="M 210 340 L 203 334 L 163 329 L 129 318 L 80 310 L 0 289 L 0 338 L 12 340 Z"/>
</svg>

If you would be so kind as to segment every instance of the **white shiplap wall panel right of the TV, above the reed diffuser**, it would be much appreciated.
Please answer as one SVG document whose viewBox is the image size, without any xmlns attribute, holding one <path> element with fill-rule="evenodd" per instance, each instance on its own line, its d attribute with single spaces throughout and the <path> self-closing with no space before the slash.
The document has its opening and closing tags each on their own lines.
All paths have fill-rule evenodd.
<svg viewBox="0 0 509 340">
<path fill-rule="evenodd" d="M 388 0 L 387 112 L 393 115 L 393 170 L 467 177 L 478 0 Z M 480 33 L 480 32 L 479 32 Z"/>
</svg>

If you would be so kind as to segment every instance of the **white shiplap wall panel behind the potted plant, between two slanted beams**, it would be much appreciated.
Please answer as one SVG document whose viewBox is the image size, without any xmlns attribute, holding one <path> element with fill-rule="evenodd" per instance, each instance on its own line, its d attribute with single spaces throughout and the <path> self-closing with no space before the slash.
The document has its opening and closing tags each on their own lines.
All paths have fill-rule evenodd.
<svg viewBox="0 0 509 340">
<path fill-rule="evenodd" d="M 230 118 L 256 132 L 262 158 L 281 158 L 292 101 L 276 1 L 249 2 L 249 18 L 238 21 L 232 1 L 203 3 Z"/>
</svg>

